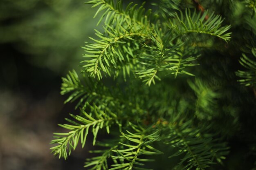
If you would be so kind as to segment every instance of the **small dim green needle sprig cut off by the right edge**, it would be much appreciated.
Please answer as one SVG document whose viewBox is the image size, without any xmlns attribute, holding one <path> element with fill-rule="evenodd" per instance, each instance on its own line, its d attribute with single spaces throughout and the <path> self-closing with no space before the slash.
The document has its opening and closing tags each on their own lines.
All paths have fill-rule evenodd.
<svg viewBox="0 0 256 170">
<path fill-rule="evenodd" d="M 240 58 L 240 64 L 247 68 L 247 71 L 236 72 L 236 75 L 242 79 L 238 80 L 245 86 L 256 86 L 256 49 L 252 49 L 251 57 L 247 57 L 245 54 Z"/>
</svg>

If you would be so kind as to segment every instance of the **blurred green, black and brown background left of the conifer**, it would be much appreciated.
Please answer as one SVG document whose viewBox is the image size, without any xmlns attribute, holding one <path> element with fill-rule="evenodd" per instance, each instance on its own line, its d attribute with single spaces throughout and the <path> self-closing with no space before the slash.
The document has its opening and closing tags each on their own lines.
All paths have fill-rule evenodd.
<svg viewBox="0 0 256 170">
<path fill-rule="evenodd" d="M 74 112 L 63 105 L 61 77 L 79 70 L 80 46 L 97 24 L 83 2 L 0 0 L 0 170 L 84 169 L 81 147 L 68 161 L 49 150 L 57 123 Z"/>
</svg>

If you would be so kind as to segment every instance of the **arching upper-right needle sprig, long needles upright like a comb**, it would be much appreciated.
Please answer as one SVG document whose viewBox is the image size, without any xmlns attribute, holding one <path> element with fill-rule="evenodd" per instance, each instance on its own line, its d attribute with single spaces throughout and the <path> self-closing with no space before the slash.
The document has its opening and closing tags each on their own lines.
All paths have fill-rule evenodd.
<svg viewBox="0 0 256 170">
<path fill-rule="evenodd" d="M 216 36 L 225 41 L 231 39 L 231 33 L 227 31 L 231 28 L 230 25 L 222 26 L 223 22 L 220 15 L 209 14 L 208 11 L 204 13 L 198 13 L 196 10 L 191 13 L 190 9 L 186 9 L 185 16 L 180 13 L 180 16 L 176 14 L 176 25 L 177 33 L 202 33 L 212 36 Z M 207 19 L 206 19 L 206 16 Z"/>
</svg>

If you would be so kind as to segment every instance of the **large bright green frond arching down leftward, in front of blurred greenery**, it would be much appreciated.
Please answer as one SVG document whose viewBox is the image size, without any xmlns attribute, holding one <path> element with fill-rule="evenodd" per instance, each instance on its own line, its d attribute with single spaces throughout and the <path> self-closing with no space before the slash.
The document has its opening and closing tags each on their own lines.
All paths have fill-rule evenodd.
<svg viewBox="0 0 256 170">
<path fill-rule="evenodd" d="M 144 36 L 139 30 L 136 33 L 130 32 L 132 25 L 127 29 L 124 29 L 121 25 L 116 29 L 111 26 L 107 27 L 110 29 L 109 31 L 105 28 L 108 36 L 95 30 L 100 40 L 90 38 L 94 43 L 86 43 L 85 47 L 82 47 L 87 54 L 84 55 L 85 60 L 81 63 L 85 63 L 83 65 L 84 71 L 93 78 L 102 79 L 102 72 L 111 76 L 110 71 L 112 69 L 115 70 L 122 62 L 129 61 L 129 56 L 124 55 L 125 53 L 130 57 L 134 56 L 134 51 L 139 46 L 138 38 L 136 40 L 134 38 Z M 132 42 L 132 45 L 128 42 Z M 121 53 L 122 51 L 125 51 L 125 53 Z"/>
</svg>

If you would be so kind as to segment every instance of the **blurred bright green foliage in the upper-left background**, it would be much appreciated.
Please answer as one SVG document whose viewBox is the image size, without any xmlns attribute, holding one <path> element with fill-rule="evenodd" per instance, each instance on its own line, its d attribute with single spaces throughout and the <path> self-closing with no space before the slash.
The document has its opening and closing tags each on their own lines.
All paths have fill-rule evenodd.
<svg viewBox="0 0 256 170">
<path fill-rule="evenodd" d="M 81 0 L 1 0 L 0 44 L 15 44 L 36 66 L 67 71 L 81 61 L 80 46 L 94 33 L 94 10 Z"/>
</svg>

